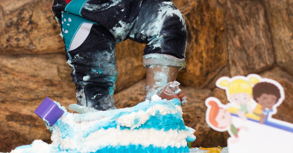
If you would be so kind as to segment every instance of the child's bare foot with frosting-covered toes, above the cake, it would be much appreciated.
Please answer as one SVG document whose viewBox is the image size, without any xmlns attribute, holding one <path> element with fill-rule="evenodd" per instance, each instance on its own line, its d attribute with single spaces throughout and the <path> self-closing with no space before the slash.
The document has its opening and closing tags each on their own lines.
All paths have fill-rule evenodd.
<svg viewBox="0 0 293 153">
<path fill-rule="evenodd" d="M 179 99 L 181 101 L 181 105 L 187 103 L 186 96 L 183 94 L 181 89 L 179 88 L 180 83 L 177 81 L 169 82 L 161 91 L 159 96 L 162 99 L 171 100 L 173 98 Z"/>
</svg>

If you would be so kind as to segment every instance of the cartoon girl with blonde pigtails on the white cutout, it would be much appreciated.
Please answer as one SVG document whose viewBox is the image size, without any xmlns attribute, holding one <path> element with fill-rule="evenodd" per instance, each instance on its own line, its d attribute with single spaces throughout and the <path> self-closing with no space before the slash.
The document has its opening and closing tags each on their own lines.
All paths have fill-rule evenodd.
<svg viewBox="0 0 293 153">
<path fill-rule="evenodd" d="M 252 98 L 252 86 L 259 81 L 258 76 L 253 74 L 247 77 L 235 76 L 232 78 L 221 77 L 217 80 L 216 86 L 226 90 L 226 96 L 229 102 L 240 106 L 237 115 L 246 120 L 246 113 L 253 113 L 253 108 L 249 105 Z"/>
</svg>

